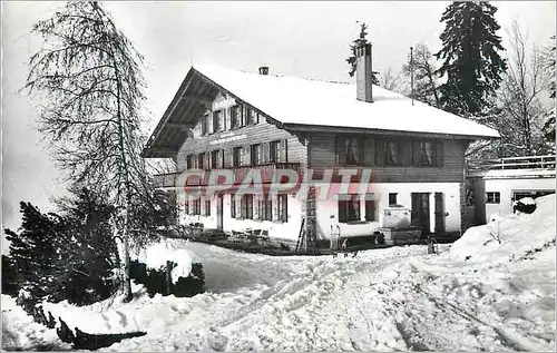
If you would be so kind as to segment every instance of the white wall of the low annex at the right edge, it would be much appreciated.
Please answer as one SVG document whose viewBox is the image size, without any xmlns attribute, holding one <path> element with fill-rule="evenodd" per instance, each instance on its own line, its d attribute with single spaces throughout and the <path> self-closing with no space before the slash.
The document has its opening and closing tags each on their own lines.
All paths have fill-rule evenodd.
<svg viewBox="0 0 557 353">
<path fill-rule="evenodd" d="M 472 178 L 475 192 L 476 216 L 479 224 L 488 220 L 490 215 L 512 214 L 512 194 L 515 192 L 555 192 L 555 176 L 535 178 L 535 177 L 514 177 L 514 178 Z M 487 204 L 486 193 L 500 193 L 500 204 Z"/>
</svg>

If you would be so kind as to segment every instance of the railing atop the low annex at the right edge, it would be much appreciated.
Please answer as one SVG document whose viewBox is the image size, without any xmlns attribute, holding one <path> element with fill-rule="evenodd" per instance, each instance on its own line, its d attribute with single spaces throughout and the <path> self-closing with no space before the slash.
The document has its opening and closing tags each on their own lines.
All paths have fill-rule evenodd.
<svg viewBox="0 0 557 353">
<path fill-rule="evenodd" d="M 509 157 L 486 160 L 470 160 L 468 171 L 509 170 L 509 169 L 555 169 L 555 156 Z"/>
</svg>

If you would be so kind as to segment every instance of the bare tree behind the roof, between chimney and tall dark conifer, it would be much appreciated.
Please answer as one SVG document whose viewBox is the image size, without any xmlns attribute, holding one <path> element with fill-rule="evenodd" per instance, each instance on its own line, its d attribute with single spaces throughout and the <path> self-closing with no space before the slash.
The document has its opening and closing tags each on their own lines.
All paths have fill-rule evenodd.
<svg viewBox="0 0 557 353">
<path fill-rule="evenodd" d="M 412 62 L 410 62 L 409 56 L 408 62 L 402 66 L 402 72 L 405 77 L 410 77 L 412 69 L 414 75 L 413 98 L 440 108 L 436 58 L 424 43 L 418 43 L 413 48 Z"/>
</svg>

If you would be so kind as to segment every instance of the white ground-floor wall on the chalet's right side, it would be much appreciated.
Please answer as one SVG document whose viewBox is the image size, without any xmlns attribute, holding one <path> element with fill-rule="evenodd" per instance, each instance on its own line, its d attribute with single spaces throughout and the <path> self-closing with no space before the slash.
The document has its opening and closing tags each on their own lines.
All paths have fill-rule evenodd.
<svg viewBox="0 0 557 353">
<path fill-rule="evenodd" d="M 460 231 L 460 184 L 459 183 L 379 183 L 373 184 L 373 193 L 379 196 L 377 209 L 379 218 L 377 222 L 365 222 L 365 200 L 363 196 L 360 200 L 361 222 L 359 223 L 339 223 L 342 236 L 370 235 L 378 231 L 383 224 L 382 210 L 389 206 L 389 193 L 397 193 L 397 203 L 405 208 L 412 208 L 412 193 L 429 193 L 430 204 L 430 232 L 434 232 L 434 193 L 442 193 L 444 200 L 444 212 L 448 214 L 444 218 L 446 232 Z M 328 239 L 331 235 L 331 224 L 339 217 L 338 200 L 317 200 L 317 239 Z"/>
</svg>

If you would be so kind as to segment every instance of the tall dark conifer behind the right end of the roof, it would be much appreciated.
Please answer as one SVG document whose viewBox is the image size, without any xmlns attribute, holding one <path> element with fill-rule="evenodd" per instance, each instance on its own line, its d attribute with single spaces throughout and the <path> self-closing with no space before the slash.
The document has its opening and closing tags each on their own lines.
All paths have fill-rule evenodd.
<svg viewBox="0 0 557 353">
<path fill-rule="evenodd" d="M 507 69 L 500 26 L 495 19 L 497 8 L 487 1 L 455 1 L 444 10 L 446 23 L 440 36 L 442 59 L 438 73 L 447 81 L 440 86 L 440 102 L 444 110 L 476 116 L 485 114 L 488 98 L 495 96 Z"/>
</svg>

